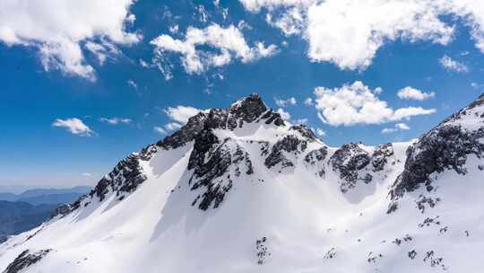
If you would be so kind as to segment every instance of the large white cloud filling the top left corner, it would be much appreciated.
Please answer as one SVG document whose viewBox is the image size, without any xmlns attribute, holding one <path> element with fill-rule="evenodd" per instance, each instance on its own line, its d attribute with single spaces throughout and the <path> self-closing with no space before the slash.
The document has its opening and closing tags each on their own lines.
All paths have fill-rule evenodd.
<svg viewBox="0 0 484 273">
<path fill-rule="evenodd" d="M 82 45 L 100 63 L 113 52 L 114 44 L 129 45 L 141 39 L 126 31 L 134 21 L 133 0 L 16 0 L 0 2 L 0 42 L 7 46 L 38 48 L 45 70 L 95 80 L 95 72 Z M 102 40 L 94 43 L 94 40 Z"/>
</svg>

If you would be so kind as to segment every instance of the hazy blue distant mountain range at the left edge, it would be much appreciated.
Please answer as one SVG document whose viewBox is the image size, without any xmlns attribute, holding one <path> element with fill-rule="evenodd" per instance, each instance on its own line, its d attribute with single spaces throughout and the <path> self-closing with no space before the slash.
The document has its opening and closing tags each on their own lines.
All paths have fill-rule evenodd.
<svg viewBox="0 0 484 273">
<path fill-rule="evenodd" d="M 72 189 L 28 189 L 21 194 L 0 193 L 0 242 L 8 235 L 40 225 L 56 207 L 73 202 L 90 190 L 90 187 L 80 186 Z"/>
</svg>

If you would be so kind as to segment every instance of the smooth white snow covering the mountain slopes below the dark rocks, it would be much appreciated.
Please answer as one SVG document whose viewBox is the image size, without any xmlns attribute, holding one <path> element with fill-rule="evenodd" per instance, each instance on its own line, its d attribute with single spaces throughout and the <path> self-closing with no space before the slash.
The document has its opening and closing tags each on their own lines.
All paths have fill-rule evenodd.
<svg viewBox="0 0 484 273">
<path fill-rule="evenodd" d="M 471 115 L 470 117 L 475 117 Z M 474 119 L 474 118 L 472 118 Z M 481 119 L 480 119 L 481 120 Z M 475 129 L 480 121 L 462 119 Z M 268 169 L 261 141 L 273 145 L 289 127 L 246 124 L 230 137 L 249 154 L 254 173 L 233 178 L 220 207 L 192 206 L 199 194 L 188 185 L 193 143 L 160 149 L 142 161 L 148 180 L 122 201 L 109 193 L 99 203 L 55 219 L 0 245 L 0 270 L 22 251 L 52 249 L 27 272 L 482 272 L 484 259 L 484 172 L 470 156 L 467 175 L 435 174 L 437 189 L 406 193 L 387 214 L 389 189 L 402 172 L 411 143 L 393 143 L 394 154 L 373 181 L 341 192 L 338 173 L 324 158 L 325 175 L 303 162 L 324 144 L 286 154 L 295 168 Z M 374 147 L 360 145 L 369 153 Z M 435 207 L 416 201 L 437 199 Z M 426 219 L 431 221 L 424 224 Z M 424 224 L 424 225 L 422 225 Z M 27 238 L 34 234 L 29 240 Z M 258 263 L 256 241 L 266 253 Z M 409 239 L 411 238 L 411 239 Z M 261 242 L 262 243 L 262 242 Z M 413 252 L 415 251 L 415 252 Z M 440 260 L 441 259 L 441 260 Z"/>
</svg>

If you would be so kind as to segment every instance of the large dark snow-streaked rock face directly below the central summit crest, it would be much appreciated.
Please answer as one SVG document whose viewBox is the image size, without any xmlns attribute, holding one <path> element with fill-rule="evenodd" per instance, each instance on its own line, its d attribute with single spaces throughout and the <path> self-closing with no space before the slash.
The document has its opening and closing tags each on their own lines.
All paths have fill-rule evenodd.
<svg viewBox="0 0 484 273">
<path fill-rule="evenodd" d="M 196 137 L 188 170 L 194 171 L 189 181 L 191 189 L 203 188 L 203 193 L 192 203 L 193 206 L 198 203 L 202 210 L 208 209 L 212 204 L 213 208 L 220 206 L 232 188 L 231 175 L 238 177 L 241 172 L 247 175 L 254 172 L 246 151 L 231 138 L 220 142 L 212 130 L 203 130 Z"/>
</svg>

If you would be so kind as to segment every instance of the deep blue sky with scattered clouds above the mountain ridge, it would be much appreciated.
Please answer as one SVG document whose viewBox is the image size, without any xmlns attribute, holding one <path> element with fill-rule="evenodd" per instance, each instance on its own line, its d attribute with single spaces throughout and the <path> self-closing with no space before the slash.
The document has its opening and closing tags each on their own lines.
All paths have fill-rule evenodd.
<svg viewBox="0 0 484 273">
<path fill-rule="evenodd" d="M 273 109 L 288 112 L 293 122 L 304 121 L 309 127 L 319 129 L 318 132 L 324 132 L 321 138 L 328 145 L 358 141 L 376 145 L 419 137 L 484 90 L 481 85 L 484 84 L 484 49 L 479 48 L 484 34 L 478 35 L 479 23 L 484 22 L 484 17 L 471 13 L 473 9 L 462 12 L 462 6 L 458 7 L 460 10 L 453 10 L 451 6 L 446 11 L 432 12 L 448 29 L 432 20 L 401 22 L 398 16 L 408 17 L 404 13 L 386 16 L 394 17 L 396 24 L 385 21 L 386 18 L 380 19 L 382 22 L 367 22 L 367 18 L 351 17 L 357 25 L 369 23 L 371 28 L 376 28 L 371 33 L 377 33 L 370 36 L 370 40 L 352 40 L 351 35 L 358 36 L 358 31 L 365 29 L 356 28 L 353 33 L 346 28 L 326 33 L 328 25 L 315 22 L 311 16 L 318 15 L 313 14 L 315 12 L 324 15 L 327 12 L 324 8 L 332 12 L 333 7 L 320 4 L 322 8 L 318 10 L 314 1 L 299 1 L 302 4 L 298 5 L 287 4 L 298 1 L 273 1 L 276 3 L 273 5 L 264 5 L 269 2 L 261 1 L 256 5 L 257 2 L 250 0 L 111 2 L 119 5 L 121 15 L 106 13 L 101 8 L 94 10 L 87 4 L 85 8 L 89 13 L 103 16 L 106 13 L 106 22 L 83 21 L 82 9 L 69 9 L 79 15 L 80 25 L 94 30 L 87 34 L 73 32 L 68 23 L 63 25 L 59 21 L 55 22 L 60 25 L 52 27 L 49 22 L 52 16 L 34 8 L 33 12 L 25 12 L 30 13 L 30 21 L 36 22 L 34 25 L 40 30 L 35 33 L 23 30 L 17 26 L 24 22 L 17 22 L 21 19 L 15 14 L 22 10 L 2 2 L 0 15 L 11 13 L 11 16 L 0 19 L 1 186 L 92 185 L 127 154 L 169 134 L 167 124 L 183 123 L 176 114 L 184 113 L 173 111 L 170 116 L 167 114 L 169 107 L 181 105 L 200 110 L 227 107 L 241 96 L 258 92 Z M 392 4 L 395 0 L 387 2 Z M 468 2 L 480 5 L 476 11 L 484 10 L 479 2 Z M 454 1 L 448 0 L 448 3 L 454 4 Z M 424 13 L 435 8 L 421 5 L 418 7 Z M 371 4 L 367 7 L 367 16 L 379 18 L 381 10 Z M 70 8 L 68 4 L 66 8 Z M 351 5 L 349 9 L 349 13 L 354 12 Z M 294 11 L 302 15 L 301 22 L 290 17 L 296 13 Z M 272 23 L 267 19 L 268 14 Z M 116 17 L 113 19 L 116 23 L 108 23 L 109 16 Z M 279 21 L 286 22 L 285 30 L 277 26 L 281 18 L 293 20 Z M 331 22 L 329 18 L 329 22 L 324 23 L 340 28 L 338 19 Z M 187 72 L 194 64 L 184 66 L 180 60 L 190 49 L 186 31 L 189 28 L 208 30 L 214 25 L 218 27 L 213 28 L 215 38 L 213 33 L 198 33 L 202 35 L 198 39 L 205 42 L 195 44 L 195 54 L 203 71 L 199 68 Z M 395 25 L 402 30 L 393 33 Z M 221 35 L 230 26 L 230 35 Z M 290 33 L 288 26 L 298 33 Z M 121 34 L 116 32 L 119 30 Z M 57 32 L 65 40 L 51 39 Z M 242 35 L 245 44 L 240 44 L 240 37 L 234 37 L 234 33 Z M 334 33 L 341 37 L 333 41 L 331 35 Z M 163 34 L 167 36 L 161 44 L 151 43 Z M 448 36 L 448 40 L 443 41 L 442 36 Z M 226 59 L 219 66 L 213 65 L 210 58 L 223 53 L 214 45 L 213 40 L 217 39 L 229 45 L 228 55 L 224 56 L 229 57 L 229 61 Z M 175 49 L 169 49 L 169 42 L 174 40 L 177 41 Z M 368 48 L 367 43 L 375 40 L 374 57 L 358 53 L 359 48 Z M 257 48 L 258 42 L 264 44 L 265 52 Z M 59 46 L 66 43 L 78 45 L 80 51 Z M 90 50 L 90 43 L 98 45 L 101 51 Z M 346 45 L 350 45 L 349 48 L 345 48 Z M 160 54 L 155 52 L 157 47 L 163 48 Z M 182 47 L 188 49 L 182 52 Z M 105 59 L 99 61 L 101 58 Z M 165 67 L 165 74 L 157 65 Z M 171 78 L 167 80 L 168 76 Z M 355 85 L 355 82 L 361 84 Z M 359 90 L 355 90 L 358 86 Z M 315 94 L 318 87 L 323 90 L 319 95 Z M 413 91 L 406 99 L 402 94 L 402 98 L 398 96 L 404 87 L 411 87 Z M 328 106 L 334 98 L 343 103 L 353 92 L 376 102 L 369 105 L 382 107 L 381 102 L 384 102 L 383 109 L 393 113 L 379 117 L 383 110 L 376 108 L 378 117 L 373 117 L 375 119 L 361 112 L 346 119 L 341 117 L 341 112 L 345 112 L 342 108 L 342 111 L 331 110 L 332 107 L 338 110 L 340 104 Z M 292 103 L 290 98 L 294 98 Z M 307 98 L 313 103 L 305 104 Z M 285 105 L 280 101 L 278 105 L 276 99 L 288 101 Z M 350 101 L 346 103 L 351 104 Z M 432 112 L 411 119 L 395 117 L 395 110 L 409 107 Z M 77 127 L 80 131 L 73 133 L 63 126 L 73 119 L 79 119 L 88 129 Z M 109 124 L 107 119 L 117 124 Z M 165 133 L 156 130 L 157 127 L 163 128 Z"/>
</svg>

